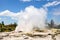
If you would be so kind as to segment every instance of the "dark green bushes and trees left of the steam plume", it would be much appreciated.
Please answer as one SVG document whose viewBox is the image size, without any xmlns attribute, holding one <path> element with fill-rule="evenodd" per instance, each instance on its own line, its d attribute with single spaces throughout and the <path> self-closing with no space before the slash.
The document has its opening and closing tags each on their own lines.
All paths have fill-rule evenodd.
<svg viewBox="0 0 60 40">
<path fill-rule="evenodd" d="M 9 25 L 5 25 L 4 22 L 2 21 L 2 23 L 0 23 L 0 32 L 10 32 L 15 30 L 17 24 L 9 24 Z"/>
</svg>

